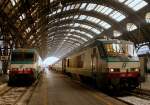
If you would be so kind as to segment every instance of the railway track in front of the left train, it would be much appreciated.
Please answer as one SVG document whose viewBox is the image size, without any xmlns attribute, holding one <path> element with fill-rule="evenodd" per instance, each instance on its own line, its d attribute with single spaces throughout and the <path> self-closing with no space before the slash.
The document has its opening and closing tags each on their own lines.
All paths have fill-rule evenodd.
<svg viewBox="0 0 150 105">
<path fill-rule="evenodd" d="M 10 87 L 5 85 L 0 90 L 0 105 L 27 105 L 39 80 L 31 86 Z"/>
</svg>

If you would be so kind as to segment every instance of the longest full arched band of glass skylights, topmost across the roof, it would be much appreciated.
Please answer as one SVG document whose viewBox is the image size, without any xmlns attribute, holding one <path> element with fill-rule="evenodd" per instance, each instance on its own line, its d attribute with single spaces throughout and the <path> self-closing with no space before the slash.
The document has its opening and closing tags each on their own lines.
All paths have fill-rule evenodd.
<svg viewBox="0 0 150 105">
<path fill-rule="evenodd" d="M 80 7 L 80 8 L 79 8 Z M 98 13 L 101 13 L 103 15 L 109 16 L 110 18 L 114 19 L 115 21 L 122 21 L 123 19 L 126 18 L 124 14 L 121 12 L 114 10 L 110 7 L 106 7 L 103 5 L 97 5 L 93 3 L 82 3 L 81 6 L 80 4 L 73 4 L 73 5 L 68 5 L 67 7 L 63 8 L 63 11 L 69 11 L 71 9 L 80 9 L 80 10 L 86 10 L 86 11 L 95 11 Z M 52 14 L 49 16 L 55 15 L 56 13 L 61 12 L 61 9 L 58 9 L 57 11 L 54 11 Z"/>
</svg>

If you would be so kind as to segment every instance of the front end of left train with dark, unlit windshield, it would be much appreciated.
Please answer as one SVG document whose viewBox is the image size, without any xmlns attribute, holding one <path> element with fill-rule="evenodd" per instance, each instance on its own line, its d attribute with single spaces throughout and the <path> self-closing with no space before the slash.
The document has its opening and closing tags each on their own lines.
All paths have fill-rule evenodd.
<svg viewBox="0 0 150 105">
<path fill-rule="evenodd" d="M 34 52 L 14 50 L 9 68 L 9 82 L 33 81 L 35 73 Z"/>
</svg>

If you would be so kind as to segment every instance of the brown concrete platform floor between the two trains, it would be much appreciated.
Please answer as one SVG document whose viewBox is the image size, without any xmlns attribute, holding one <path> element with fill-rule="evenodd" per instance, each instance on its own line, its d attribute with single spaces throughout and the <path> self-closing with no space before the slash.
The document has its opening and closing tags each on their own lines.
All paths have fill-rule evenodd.
<svg viewBox="0 0 150 105">
<path fill-rule="evenodd" d="M 125 105 L 67 76 L 46 70 L 29 105 Z"/>
</svg>

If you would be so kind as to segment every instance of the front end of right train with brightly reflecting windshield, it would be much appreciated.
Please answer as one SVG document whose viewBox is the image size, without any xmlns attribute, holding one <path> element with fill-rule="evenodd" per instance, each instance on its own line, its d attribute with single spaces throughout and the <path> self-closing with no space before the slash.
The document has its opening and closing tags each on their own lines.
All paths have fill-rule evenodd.
<svg viewBox="0 0 150 105">
<path fill-rule="evenodd" d="M 117 40 L 105 43 L 104 46 L 110 86 L 130 90 L 139 86 L 140 62 L 134 44 Z"/>
</svg>

